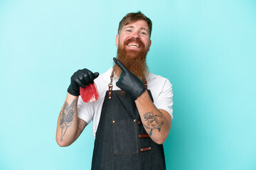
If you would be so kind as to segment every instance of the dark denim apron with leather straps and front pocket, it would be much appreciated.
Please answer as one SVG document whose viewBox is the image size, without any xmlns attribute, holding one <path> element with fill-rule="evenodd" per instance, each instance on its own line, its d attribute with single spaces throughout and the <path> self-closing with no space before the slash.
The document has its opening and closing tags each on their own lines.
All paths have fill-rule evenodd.
<svg viewBox="0 0 256 170">
<path fill-rule="evenodd" d="M 96 132 L 92 169 L 166 169 L 163 145 L 151 140 L 134 100 L 124 91 L 112 91 L 112 81 Z"/>
</svg>

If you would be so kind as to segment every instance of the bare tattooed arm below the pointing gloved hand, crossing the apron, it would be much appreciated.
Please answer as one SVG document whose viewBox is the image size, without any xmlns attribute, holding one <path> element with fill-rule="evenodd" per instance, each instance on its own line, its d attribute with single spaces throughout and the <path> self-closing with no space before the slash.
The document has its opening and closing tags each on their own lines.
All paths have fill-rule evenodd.
<svg viewBox="0 0 256 170">
<path fill-rule="evenodd" d="M 171 130 L 171 115 L 163 109 L 157 109 L 147 91 L 135 101 L 146 132 L 157 144 L 166 140 Z"/>
</svg>

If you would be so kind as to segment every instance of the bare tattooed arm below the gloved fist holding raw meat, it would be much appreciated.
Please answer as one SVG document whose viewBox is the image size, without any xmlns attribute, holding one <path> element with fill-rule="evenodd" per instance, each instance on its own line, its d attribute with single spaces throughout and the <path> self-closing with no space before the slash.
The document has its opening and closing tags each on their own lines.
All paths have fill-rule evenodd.
<svg viewBox="0 0 256 170">
<path fill-rule="evenodd" d="M 58 117 L 56 142 L 60 147 L 67 147 L 78 139 L 87 123 L 78 118 L 78 96 L 67 95 Z"/>
</svg>

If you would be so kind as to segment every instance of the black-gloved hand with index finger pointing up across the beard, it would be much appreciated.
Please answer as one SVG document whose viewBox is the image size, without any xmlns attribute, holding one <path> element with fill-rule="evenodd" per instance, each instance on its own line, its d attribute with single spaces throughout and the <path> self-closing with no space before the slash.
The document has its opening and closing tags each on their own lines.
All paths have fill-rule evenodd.
<svg viewBox="0 0 256 170">
<path fill-rule="evenodd" d="M 127 94 L 130 94 L 135 101 L 146 91 L 146 87 L 142 83 L 142 80 L 132 74 L 122 62 L 116 58 L 113 58 L 113 60 L 122 69 L 122 73 L 117 81 L 117 86 L 127 92 Z"/>
</svg>

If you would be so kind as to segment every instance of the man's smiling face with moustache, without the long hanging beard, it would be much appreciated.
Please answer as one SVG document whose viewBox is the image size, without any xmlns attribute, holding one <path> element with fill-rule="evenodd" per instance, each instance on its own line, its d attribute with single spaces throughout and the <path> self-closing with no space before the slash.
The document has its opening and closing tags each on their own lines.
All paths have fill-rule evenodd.
<svg viewBox="0 0 256 170">
<path fill-rule="evenodd" d="M 148 23 L 139 20 L 124 26 L 116 37 L 116 45 L 127 53 L 137 53 L 144 50 L 148 52 L 151 46 Z"/>
</svg>

